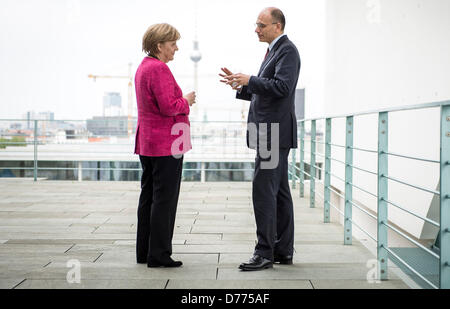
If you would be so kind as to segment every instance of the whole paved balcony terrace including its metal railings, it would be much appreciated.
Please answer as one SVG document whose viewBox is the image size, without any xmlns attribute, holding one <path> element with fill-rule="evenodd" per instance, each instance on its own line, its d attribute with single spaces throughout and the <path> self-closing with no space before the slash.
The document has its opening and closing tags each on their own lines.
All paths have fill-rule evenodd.
<svg viewBox="0 0 450 309">
<path fill-rule="evenodd" d="M 409 143 L 410 134 L 402 132 L 404 123 L 413 119 L 412 112 L 437 117 L 440 130 L 434 132 L 433 126 L 424 135 L 425 144 L 432 145 L 425 150 L 435 158 L 398 152 L 398 145 L 424 148 L 417 138 Z M 407 117 L 398 116 L 405 113 Z M 325 122 L 324 134 L 317 132 L 320 121 Z M 146 270 L 136 265 L 134 257 L 139 183 L 85 182 L 80 176 L 84 170 L 106 171 L 109 180 L 121 170 L 138 173 L 137 167 L 80 165 L 86 154 L 88 160 L 136 161 L 129 153 L 132 140 L 118 143 L 124 148 L 116 153 L 86 152 L 81 144 L 76 148 L 79 153 L 60 151 L 57 143 L 47 145 L 47 135 L 39 137 L 35 121 L 31 140 L 6 142 L 6 151 L 0 151 L 9 156 L 8 161 L 28 158 L 33 163 L 2 167 L 26 171 L 25 176 L 32 178 L 0 178 L 1 284 L 7 288 L 446 288 L 449 123 L 448 101 L 299 121 L 300 149 L 291 151 L 289 171 L 296 217 L 294 266 L 242 273 L 237 266 L 250 257 L 256 238 L 251 182 L 206 182 L 205 177 L 206 173 L 251 173 L 250 167 L 205 168 L 210 160 L 252 161 L 243 144 L 242 123 L 231 138 L 224 124 L 203 123 L 195 128 L 195 151 L 186 155 L 186 161 L 201 166 L 185 172 L 201 176 L 197 182 L 183 182 L 174 237 L 174 255 L 185 265 L 180 270 Z M 211 129 L 220 125 L 222 129 Z M 411 130 L 408 127 L 406 133 Z M 389 142 L 392 137 L 395 143 Z M 439 147 L 433 141 L 440 151 L 435 151 Z M 367 146 L 370 143 L 372 147 Z M 18 144 L 28 146 L 19 150 Z M 96 144 L 100 149 L 117 145 Z M 230 154 L 230 149 L 235 151 Z M 372 155 L 372 161 L 357 156 L 360 152 Z M 55 160 L 78 160 L 78 167 L 42 166 L 41 158 L 52 155 Z M 411 169 L 405 161 L 424 163 Z M 45 170 L 77 171 L 78 181 L 40 178 Z M 78 285 L 66 277 L 70 263 L 78 263 L 82 271 Z"/>
</svg>

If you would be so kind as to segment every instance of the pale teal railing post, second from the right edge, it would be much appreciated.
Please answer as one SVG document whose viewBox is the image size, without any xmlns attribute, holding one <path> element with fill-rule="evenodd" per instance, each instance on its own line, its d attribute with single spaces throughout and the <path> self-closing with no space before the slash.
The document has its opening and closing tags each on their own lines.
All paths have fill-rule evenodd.
<svg viewBox="0 0 450 309">
<path fill-rule="evenodd" d="M 382 112 L 378 116 L 378 229 L 377 229 L 377 257 L 378 279 L 387 280 L 388 266 L 388 228 L 383 223 L 388 223 L 388 113 Z"/>
</svg>

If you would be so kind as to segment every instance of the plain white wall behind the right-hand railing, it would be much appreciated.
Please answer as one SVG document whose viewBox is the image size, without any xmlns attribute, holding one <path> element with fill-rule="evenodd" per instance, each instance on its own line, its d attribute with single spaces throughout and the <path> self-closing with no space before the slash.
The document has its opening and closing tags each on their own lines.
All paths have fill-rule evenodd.
<svg viewBox="0 0 450 309">
<path fill-rule="evenodd" d="M 325 115 L 450 99 L 450 1 L 328 0 Z M 393 113 L 389 149 L 439 159 L 439 109 Z M 333 121 L 333 143 L 345 144 L 345 122 Z M 377 118 L 355 118 L 355 147 L 377 149 Z M 344 159 L 343 150 L 333 156 Z M 354 153 L 354 164 L 376 171 L 376 155 Z M 344 177 L 344 167 L 332 163 Z M 436 164 L 390 157 L 389 175 L 432 190 L 438 188 Z M 376 177 L 354 173 L 354 183 L 372 193 Z M 332 178 L 332 184 L 343 184 Z M 354 198 L 376 210 L 376 199 L 354 189 Z M 389 183 L 389 199 L 422 216 L 434 216 L 433 195 Z M 436 206 L 436 203 L 433 203 Z M 422 220 L 389 206 L 389 219 L 417 238 L 434 238 Z M 437 218 L 434 218 L 435 220 Z"/>
</svg>

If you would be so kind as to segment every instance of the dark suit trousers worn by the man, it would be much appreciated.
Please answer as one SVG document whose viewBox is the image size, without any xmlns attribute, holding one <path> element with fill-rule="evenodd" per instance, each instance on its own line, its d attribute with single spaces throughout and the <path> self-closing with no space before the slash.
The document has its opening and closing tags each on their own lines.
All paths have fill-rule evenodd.
<svg viewBox="0 0 450 309">
<path fill-rule="evenodd" d="M 290 149 L 279 149 L 279 162 L 273 169 L 261 167 L 257 154 L 253 177 L 253 210 L 258 243 L 254 254 L 273 261 L 274 255 L 294 253 L 294 206 L 288 181 Z"/>
</svg>

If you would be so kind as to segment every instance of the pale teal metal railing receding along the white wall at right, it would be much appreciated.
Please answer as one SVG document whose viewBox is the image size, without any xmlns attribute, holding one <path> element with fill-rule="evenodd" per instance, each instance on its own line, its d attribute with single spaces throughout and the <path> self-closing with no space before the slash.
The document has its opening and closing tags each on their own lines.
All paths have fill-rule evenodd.
<svg viewBox="0 0 450 309">
<path fill-rule="evenodd" d="M 411 110 L 422 110 L 429 108 L 439 108 L 440 109 L 440 160 L 430 160 L 424 158 L 417 158 L 412 156 L 406 156 L 394 152 L 390 152 L 388 149 L 388 139 L 389 139 L 389 115 L 393 112 L 411 111 Z M 354 118 L 363 115 L 378 115 L 378 150 L 373 149 L 361 149 L 354 147 L 353 137 L 354 137 Z M 332 120 L 344 118 L 346 121 L 345 126 L 345 145 L 337 145 L 331 143 L 332 136 Z M 325 141 L 318 141 L 316 138 L 317 121 L 325 121 Z M 311 151 L 310 151 L 310 162 L 305 162 L 305 123 L 311 123 Z M 365 235 L 369 236 L 372 240 L 377 243 L 377 259 L 379 262 L 378 278 L 380 280 L 388 279 L 388 259 L 395 258 L 400 261 L 403 266 L 414 273 L 416 276 L 421 278 L 432 288 L 450 288 L 450 101 L 436 102 L 424 105 L 414 105 L 402 108 L 392 108 L 379 111 L 370 111 L 365 113 L 342 115 L 335 117 L 326 117 L 319 119 L 308 119 L 299 121 L 299 139 L 300 139 L 300 168 L 297 167 L 298 161 L 296 160 L 296 151 L 292 151 L 292 162 L 290 164 L 290 173 L 292 177 L 292 186 L 295 188 L 295 183 L 299 180 L 300 197 L 304 197 L 305 190 L 305 175 L 310 179 L 310 207 L 315 207 L 316 195 L 323 198 L 324 201 L 324 222 L 330 222 L 330 207 L 333 207 L 336 211 L 340 213 L 344 218 L 344 244 L 352 244 L 352 226 L 354 225 L 359 230 L 361 230 Z M 324 155 L 320 155 L 316 152 L 316 145 L 321 143 L 325 146 Z M 345 162 L 332 158 L 331 147 L 339 147 L 345 150 Z M 369 171 L 357 167 L 353 164 L 353 152 L 354 150 L 363 151 L 368 153 L 377 154 L 378 170 Z M 316 156 L 319 155 L 324 158 L 325 167 L 322 169 L 324 171 L 323 177 L 324 181 L 320 182 L 316 176 L 316 172 L 319 167 L 316 165 Z M 397 179 L 396 177 L 390 176 L 388 173 L 388 164 L 390 157 L 404 158 L 409 160 L 418 160 L 433 164 L 439 164 L 440 166 L 440 191 L 431 190 L 428 188 L 423 188 L 414 184 L 407 183 L 404 180 Z M 331 173 L 331 162 L 337 162 L 345 167 L 345 179 Z M 309 164 L 310 173 L 305 171 L 306 164 Z M 378 192 L 376 194 L 371 193 L 365 189 L 356 186 L 353 181 L 353 171 L 357 169 L 366 174 L 377 176 Z M 331 177 L 338 179 L 345 185 L 344 195 L 340 194 L 331 186 Z M 398 205 L 389 200 L 388 195 L 388 181 L 396 182 L 404 186 L 414 188 L 423 192 L 427 192 L 432 195 L 439 196 L 440 205 L 440 222 L 435 222 L 429 218 L 418 215 L 412 211 L 407 210 L 405 207 Z M 316 184 L 320 183 L 324 188 L 324 195 L 322 196 L 316 190 Z M 372 197 L 377 199 L 377 211 L 376 215 L 373 215 L 369 211 L 364 210 L 353 200 L 353 189 L 361 190 Z M 345 208 L 342 212 L 339 207 L 331 203 L 331 192 L 335 193 L 337 196 L 342 198 L 345 202 Z M 398 228 L 394 227 L 389 223 L 388 220 L 388 207 L 393 206 L 399 210 L 402 210 L 416 218 L 419 218 L 435 227 L 439 228 L 440 235 L 440 250 L 439 254 L 425 247 L 418 241 L 414 240 L 406 233 L 402 232 Z M 365 214 L 370 216 L 377 222 L 377 237 L 371 235 L 364 228 L 353 221 L 352 209 L 357 207 L 362 210 Z M 412 265 L 408 264 L 404 259 L 402 259 L 398 254 L 388 247 L 388 230 L 392 230 L 404 239 L 408 240 L 418 248 L 422 249 L 424 252 L 429 254 L 431 257 L 439 261 L 439 283 L 434 284 L 419 271 L 417 271 Z"/>
</svg>

